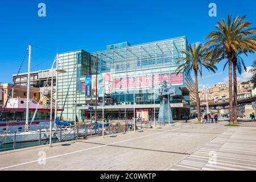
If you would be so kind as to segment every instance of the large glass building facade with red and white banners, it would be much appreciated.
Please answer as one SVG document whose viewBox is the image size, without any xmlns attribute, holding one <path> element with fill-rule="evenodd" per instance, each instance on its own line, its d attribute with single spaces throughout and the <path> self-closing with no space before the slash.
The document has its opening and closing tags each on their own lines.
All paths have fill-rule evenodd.
<svg viewBox="0 0 256 182">
<path fill-rule="evenodd" d="M 59 59 L 67 71 L 58 75 L 57 86 L 59 106 L 65 103 L 63 118 L 72 120 L 77 114 L 82 119 L 88 115 L 88 106 L 96 103 L 96 87 L 98 110 L 102 109 L 104 96 L 105 112 L 114 118 L 133 117 L 134 104 L 137 110 L 146 109 L 152 114 L 152 107 L 159 108 L 159 85 L 163 81 L 182 89 L 182 95 L 170 97 L 170 103 L 174 119 L 184 118 L 194 99 L 195 85 L 190 73 L 177 74 L 176 69 L 187 44 L 187 39 L 181 37 L 135 46 L 127 42 L 113 44 L 94 53 L 61 53 Z"/>
</svg>

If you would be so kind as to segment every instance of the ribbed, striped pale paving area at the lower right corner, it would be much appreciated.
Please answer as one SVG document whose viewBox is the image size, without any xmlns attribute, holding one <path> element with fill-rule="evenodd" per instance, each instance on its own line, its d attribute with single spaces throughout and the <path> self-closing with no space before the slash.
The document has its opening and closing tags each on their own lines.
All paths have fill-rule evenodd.
<svg viewBox="0 0 256 182">
<path fill-rule="evenodd" d="M 256 128 L 228 129 L 171 170 L 256 170 Z"/>
</svg>

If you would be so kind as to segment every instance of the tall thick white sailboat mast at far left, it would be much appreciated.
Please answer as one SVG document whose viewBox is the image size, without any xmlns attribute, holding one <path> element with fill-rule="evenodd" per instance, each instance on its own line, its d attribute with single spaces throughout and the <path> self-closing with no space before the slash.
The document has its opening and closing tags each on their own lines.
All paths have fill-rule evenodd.
<svg viewBox="0 0 256 182">
<path fill-rule="evenodd" d="M 31 64 L 31 45 L 28 46 L 28 73 L 27 73 L 27 113 L 25 130 L 28 131 L 28 119 L 30 115 L 30 64 Z"/>
</svg>

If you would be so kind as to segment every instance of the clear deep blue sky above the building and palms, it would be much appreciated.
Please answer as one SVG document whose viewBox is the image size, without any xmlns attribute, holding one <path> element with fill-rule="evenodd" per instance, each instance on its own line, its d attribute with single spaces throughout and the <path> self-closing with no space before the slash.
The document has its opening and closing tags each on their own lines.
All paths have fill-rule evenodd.
<svg viewBox="0 0 256 182">
<path fill-rule="evenodd" d="M 46 17 L 38 16 L 38 4 L 46 4 Z M 217 5 L 217 17 L 208 15 L 208 5 Z M 247 15 L 256 27 L 254 0 L 228 1 L 0 1 L 0 82 L 11 82 L 18 72 L 28 44 L 32 49 L 32 71 L 48 69 L 55 52 L 85 49 L 88 52 L 106 49 L 106 45 L 129 42 L 141 44 L 156 40 L 187 36 L 189 43 L 205 42 L 217 20 L 228 14 Z M 245 57 L 247 66 L 256 55 Z M 204 71 L 200 87 L 226 80 L 224 64 L 218 74 Z M 22 72 L 27 71 L 27 62 Z M 240 80 L 248 77 L 247 73 Z"/>
</svg>

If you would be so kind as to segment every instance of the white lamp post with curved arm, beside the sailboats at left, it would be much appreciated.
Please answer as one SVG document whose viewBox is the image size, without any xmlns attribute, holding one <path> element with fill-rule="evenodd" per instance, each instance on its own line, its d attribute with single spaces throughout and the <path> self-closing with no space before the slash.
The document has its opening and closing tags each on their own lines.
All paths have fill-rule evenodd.
<svg viewBox="0 0 256 182">
<path fill-rule="evenodd" d="M 50 112 L 50 134 L 49 134 L 49 147 L 52 147 L 52 90 L 53 90 L 53 66 L 54 64 L 57 62 L 56 64 L 56 73 L 65 73 L 67 71 L 65 71 L 62 67 L 62 61 L 59 60 L 59 54 L 56 55 L 56 59 L 53 61 L 52 63 L 52 67 L 51 67 L 51 74 L 52 74 L 52 81 L 51 81 L 51 112 Z M 58 62 L 60 62 L 60 69 L 58 69 Z M 57 76 L 57 75 L 56 75 Z M 57 79 L 57 77 L 56 77 Z M 56 88 L 55 88 L 55 94 L 57 96 L 57 85 L 56 85 Z M 56 106 L 56 98 L 55 98 L 55 109 L 57 109 L 57 106 Z M 57 115 L 56 115 L 56 110 L 55 110 L 55 119 L 56 119 Z"/>
</svg>

